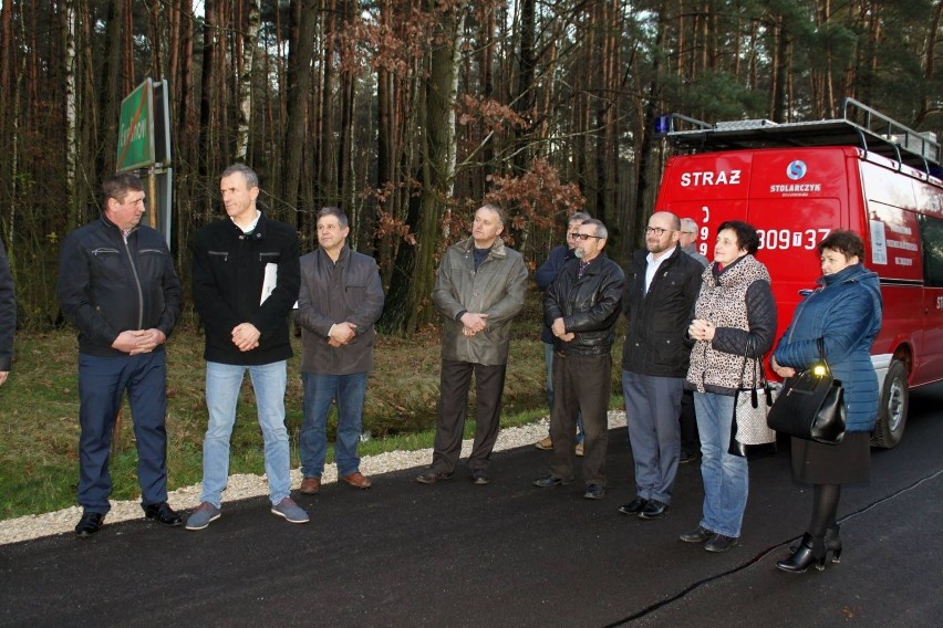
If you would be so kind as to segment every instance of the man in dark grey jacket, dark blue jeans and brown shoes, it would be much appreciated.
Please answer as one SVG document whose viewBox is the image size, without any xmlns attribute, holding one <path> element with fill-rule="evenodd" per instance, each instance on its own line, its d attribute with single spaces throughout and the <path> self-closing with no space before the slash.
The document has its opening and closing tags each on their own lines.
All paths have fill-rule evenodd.
<svg viewBox="0 0 943 628">
<path fill-rule="evenodd" d="M 301 258 L 297 321 L 301 325 L 300 491 L 321 490 L 328 453 L 328 411 L 338 404 L 334 460 L 338 477 L 354 489 L 369 489 L 356 453 L 363 423 L 367 374 L 373 369 L 373 325 L 383 313 L 383 285 L 376 261 L 346 247 L 350 223 L 343 211 L 318 212 L 318 249 Z"/>
</svg>

